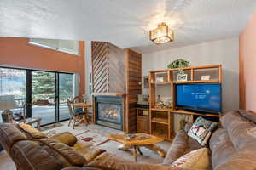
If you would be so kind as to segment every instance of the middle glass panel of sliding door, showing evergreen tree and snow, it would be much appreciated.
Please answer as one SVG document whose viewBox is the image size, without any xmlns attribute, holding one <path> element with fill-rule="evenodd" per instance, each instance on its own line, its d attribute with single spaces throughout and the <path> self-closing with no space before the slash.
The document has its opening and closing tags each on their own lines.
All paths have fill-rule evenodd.
<svg viewBox="0 0 256 170">
<path fill-rule="evenodd" d="M 57 122 L 55 74 L 32 71 L 32 117 L 41 117 L 43 125 Z"/>
</svg>

